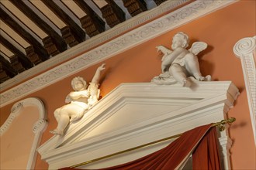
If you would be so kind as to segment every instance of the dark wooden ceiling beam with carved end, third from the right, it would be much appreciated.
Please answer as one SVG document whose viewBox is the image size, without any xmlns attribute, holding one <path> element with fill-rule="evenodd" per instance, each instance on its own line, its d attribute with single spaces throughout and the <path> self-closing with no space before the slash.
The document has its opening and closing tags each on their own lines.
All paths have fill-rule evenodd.
<svg viewBox="0 0 256 170">
<path fill-rule="evenodd" d="M 102 12 L 102 17 L 106 19 L 108 25 L 112 28 L 117 24 L 124 22 L 126 20 L 126 14 L 123 12 L 116 2 L 113 0 L 106 0 L 108 5 L 103 6 L 100 8 Z"/>
</svg>

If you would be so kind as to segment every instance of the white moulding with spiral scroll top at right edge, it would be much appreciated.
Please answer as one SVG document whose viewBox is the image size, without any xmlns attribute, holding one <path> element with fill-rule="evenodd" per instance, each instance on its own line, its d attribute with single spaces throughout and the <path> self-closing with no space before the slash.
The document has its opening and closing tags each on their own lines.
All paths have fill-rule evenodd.
<svg viewBox="0 0 256 170">
<path fill-rule="evenodd" d="M 234 53 L 240 58 L 243 68 L 254 143 L 256 144 L 256 36 L 240 39 L 234 46 Z"/>
</svg>

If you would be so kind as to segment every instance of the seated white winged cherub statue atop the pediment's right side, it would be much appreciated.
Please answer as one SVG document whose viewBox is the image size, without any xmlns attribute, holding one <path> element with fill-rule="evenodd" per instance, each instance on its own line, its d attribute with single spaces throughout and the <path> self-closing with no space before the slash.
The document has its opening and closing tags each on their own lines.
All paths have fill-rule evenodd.
<svg viewBox="0 0 256 170">
<path fill-rule="evenodd" d="M 178 32 L 172 38 L 171 49 L 165 46 L 157 46 L 157 51 L 164 54 L 162 57 L 161 70 L 159 76 L 154 76 L 151 80 L 157 84 L 173 84 L 181 83 L 183 87 L 190 87 L 192 82 L 189 76 L 196 80 L 204 81 L 210 80 L 211 76 L 202 76 L 199 69 L 199 61 L 196 56 L 202 50 L 206 49 L 205 42 L 194 42 L 190 49 L 189 36 L 183 32 Z"/>
</svg>

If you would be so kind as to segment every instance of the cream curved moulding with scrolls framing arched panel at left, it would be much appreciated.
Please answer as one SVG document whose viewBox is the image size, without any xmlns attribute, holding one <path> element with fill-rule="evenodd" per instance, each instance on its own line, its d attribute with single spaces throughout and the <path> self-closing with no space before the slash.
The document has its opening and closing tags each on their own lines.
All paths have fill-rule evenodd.
<svg viewBox="0 0 256 170">
<path fill-rule="evenodd" d="M 22 107 L 27 106 L 36 106 L 36 108 L 38 108 L 39 110 L 39 120 L 34 123 L 33 129 L 31 129 L 35 136 L 33 139 L 33 145 L 30 149 L 29 160 L 26 166 L 26 169 L 33 169 L 36 163 L 36 148 L 38 148 L 38 146 L 40 145 L 41 136 L 43 134 L 43 131 L 47 127 L 46 113 L 43 102 L 38 98 L 29 97 L 14 104 L 12 106 L 11 114 L 0 128 L 0 136 L 2 136 L 2 134 L 8 131 L 9 127 L 12 125 L 12 121 L 20 114 Z"/>
</svg>

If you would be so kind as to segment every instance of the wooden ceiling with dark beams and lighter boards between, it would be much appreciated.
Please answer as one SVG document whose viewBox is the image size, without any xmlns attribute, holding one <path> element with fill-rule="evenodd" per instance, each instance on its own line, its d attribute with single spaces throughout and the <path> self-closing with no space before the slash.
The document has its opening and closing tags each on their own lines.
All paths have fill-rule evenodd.
<svg viewBox="0 0 256 170">
<path fill-rule="evenodd" d="M 0 0 L 0 83 L 166 0 Z"/>
</svg>

